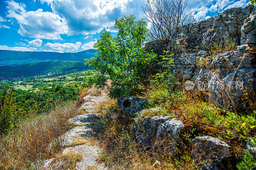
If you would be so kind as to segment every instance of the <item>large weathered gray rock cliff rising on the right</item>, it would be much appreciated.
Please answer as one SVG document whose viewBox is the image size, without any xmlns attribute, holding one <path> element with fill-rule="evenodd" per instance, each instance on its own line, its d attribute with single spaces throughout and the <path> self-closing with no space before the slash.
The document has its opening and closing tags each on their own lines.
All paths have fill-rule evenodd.
<svg viewBox="0 0 256 170">
<path fill-rule="evenodd" d="M 175 67 L 169 71 L 176 81 L 193 81 L 196 92 L 207 92 L 210 102 L 241 110 L 256 89 L 255 18 L 255 7 L 228 9 L 178 27 L 170 41 L 150 41 L 146 48 L 158 55 L 163 50 L 174 54 Z"/>
</svg>

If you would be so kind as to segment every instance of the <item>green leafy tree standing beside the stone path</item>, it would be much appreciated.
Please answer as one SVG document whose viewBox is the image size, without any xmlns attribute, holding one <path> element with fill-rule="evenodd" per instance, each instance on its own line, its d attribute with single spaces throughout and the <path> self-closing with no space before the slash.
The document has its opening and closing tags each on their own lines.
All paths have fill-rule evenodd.
<svg viewBox="0 0 256 170">
<path fill-rule="evenodd" d="M 104 30 L 94 44 L 99 52 L 85 64 L 92 65 L 96 71 L 96 85 L 103 88 L 107 79 L 112 80 L 109 96 L 130 96 L 139 89 L 142 78 L 141 69 L 146 67 L 156 56 L 148 53 L 143 43 L 148 37 L 147 23 L 135 20 L 134 15 L 116 19 L 114 28 L 118 30 L 113 37 Z"/>
</svg>

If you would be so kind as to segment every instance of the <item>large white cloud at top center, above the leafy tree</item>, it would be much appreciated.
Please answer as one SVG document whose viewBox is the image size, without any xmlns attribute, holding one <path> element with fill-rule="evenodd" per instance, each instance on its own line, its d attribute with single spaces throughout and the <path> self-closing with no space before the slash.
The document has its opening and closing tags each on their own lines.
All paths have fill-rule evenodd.
<svg viewBox="0 0 256 170">
<path fill-rule="evenodd" d="M 116 18 L 135 14 L 143 16 L 142 7 L 146 0 L 41 0 L 48 3 L 54 14 L 66 19 L 69 33 L 95 34 L 108 28 L 115 32 L 113 25 Z M 138 10 L 138 8 L 141 8 Z"/>
</svg>

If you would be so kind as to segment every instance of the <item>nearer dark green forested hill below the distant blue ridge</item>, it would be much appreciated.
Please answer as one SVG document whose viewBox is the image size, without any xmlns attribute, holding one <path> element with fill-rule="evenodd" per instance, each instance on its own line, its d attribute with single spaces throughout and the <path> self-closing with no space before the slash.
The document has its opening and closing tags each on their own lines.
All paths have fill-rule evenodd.
<svg viewBox="0 0 256 170">
<path fill-rule="evenodd" d="M 88 69 L 83 62 L 78 61 L 45 61 L 23 65 L 1 66 L 0 74 L 2 77 L 30 77 L 48 73 L 64 74 Z"/>
</svg>

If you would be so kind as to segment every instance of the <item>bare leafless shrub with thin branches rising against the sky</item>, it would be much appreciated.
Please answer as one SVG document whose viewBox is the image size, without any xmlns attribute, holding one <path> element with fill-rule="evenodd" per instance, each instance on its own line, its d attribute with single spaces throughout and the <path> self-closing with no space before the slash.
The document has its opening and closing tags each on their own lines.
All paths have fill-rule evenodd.
<svg viewBox="0 0 256 170">
<path fill-rule="evenodd" d="M 192 12 L 186 11 L 188 0 L 147 1 L 144 13 L 151 23 L 150 39 L 171 39 L 179 26 L 195 21 Z"/>
</svg>

